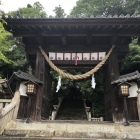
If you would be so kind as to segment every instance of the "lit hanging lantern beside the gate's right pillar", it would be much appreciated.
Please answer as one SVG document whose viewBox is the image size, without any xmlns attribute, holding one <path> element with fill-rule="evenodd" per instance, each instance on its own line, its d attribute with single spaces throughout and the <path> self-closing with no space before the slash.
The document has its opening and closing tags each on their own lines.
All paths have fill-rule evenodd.
<svg viewBox="0 0 140 140">
<path fill-rule="evenodd" d="M 124 82 L 119 85 L 119 95 L 122 97 L 128 97 L 129 96 L 129 87 L 131 84 Z"/>
</svg>

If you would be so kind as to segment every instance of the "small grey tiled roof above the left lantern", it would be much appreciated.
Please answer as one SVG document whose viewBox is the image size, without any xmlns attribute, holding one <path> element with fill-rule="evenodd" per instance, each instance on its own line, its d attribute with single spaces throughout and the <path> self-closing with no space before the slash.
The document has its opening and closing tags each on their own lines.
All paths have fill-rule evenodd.
<svg viewBox="0 0 140 140">
<path fill-rule="evenodd" d="M 33 83 L 36 83 L 36 84 L 43 84 L 43 82 L 40 81 L 39 79 L 37 79 L 34 75 L 25 73 L 21 70 L 14 72 L 13 75 L 11 76 L 11 78 L 9 79 L 9 82 L 11 82 L 11 80 L 13 79 L 14 76 L 16 76 L 20 79 L 23 79 L 23 80 L 32 81 Z"/>
</svg>

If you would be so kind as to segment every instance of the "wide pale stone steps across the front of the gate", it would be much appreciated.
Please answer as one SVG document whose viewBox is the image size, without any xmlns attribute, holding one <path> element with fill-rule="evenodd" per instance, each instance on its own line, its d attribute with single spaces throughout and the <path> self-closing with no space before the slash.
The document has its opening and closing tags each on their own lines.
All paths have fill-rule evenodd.
<svg viewBox="0 0 140 140">
<path fill-rule="evenodd" d="M 138 139 L 140 126 L 131 124 L 122 126 L 114 123 L 93 122 L 11 122 L 5 129 L 4 136 L 42 139 Z"/>
</svg>

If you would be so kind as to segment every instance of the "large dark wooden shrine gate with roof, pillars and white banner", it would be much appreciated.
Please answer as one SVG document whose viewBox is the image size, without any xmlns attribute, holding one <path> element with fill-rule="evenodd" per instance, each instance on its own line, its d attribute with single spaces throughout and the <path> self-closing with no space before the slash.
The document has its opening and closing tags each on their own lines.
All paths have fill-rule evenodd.
<svg viewBox="0 0 140 140">
<path fill-rule="evenodd" d="M 106 89 L 105 120 L 114 122 L 123 120 L 123 101 L 114 91 L 111 82 L 119 78 L 119 67 L 129 50 L 128 45 L 132 37 L 140 35 L 139 17 L 110 15 L 93 18 L 12 18 L 9 16 L 3 19 L 7 22 L 4 24 L 7 31 L 15 37 L 22 37 L 29 62 L 35 69 L 35 76 L 44 82 L 33 97 L 31 111 L 33 120 L 40 121 L 41 111 L 49 114 L 48 100 L 51 95 L 50 66 L 39 47 L 46 54 L 50 54 L 50 59 L 59 68 L 92 69 L 102 61 L 112 45 L 115 48 L 102 66 Z M 79 57 L 80 60 L 75 61 L 73 56 Z M 43 99 L 43 96 L 48 100 Z M 42 102 L 45 102 L 46 108 L 42 108 Z"/>
</svg>

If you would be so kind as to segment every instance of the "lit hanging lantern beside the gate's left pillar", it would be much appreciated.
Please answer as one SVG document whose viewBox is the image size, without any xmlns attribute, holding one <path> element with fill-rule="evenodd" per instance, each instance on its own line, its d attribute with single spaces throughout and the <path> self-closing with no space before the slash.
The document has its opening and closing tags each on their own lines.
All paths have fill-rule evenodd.
<svg viewBox="0 0 140 140">
<path fill-rule="evenodd" d="M 36 94 L 36 84 L 33 82 L 28 82 L 27 84 L 27 94 Z"/>
</svg>

